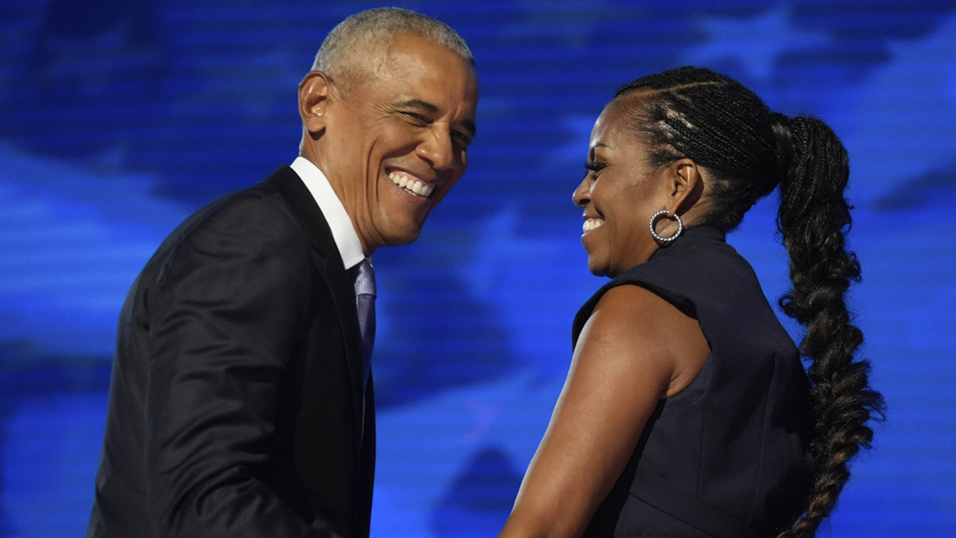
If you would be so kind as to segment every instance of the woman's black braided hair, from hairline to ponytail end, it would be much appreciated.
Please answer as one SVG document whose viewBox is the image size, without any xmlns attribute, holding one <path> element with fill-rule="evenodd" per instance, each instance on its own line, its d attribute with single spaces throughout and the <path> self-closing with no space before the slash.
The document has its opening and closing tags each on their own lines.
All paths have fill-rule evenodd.
<svg viewBox="0 0 956 538">
<path fill-rule="evenodd" d="M 772 112 L 736 80 L 707 69 L 638 78 L 615 98 L 627 99 L 627 120 L 649 145 L 652 165 L 686 157 L 710 172 L 711 209 L 697 225 L 728 232 L 780 186 L 776 222 L 793 289 L 779 303 L 806 330 L 800 352 L 812 360 L 814 463 L 803 513 L 778 538 L 812 537 L 850 477 L 848 462 L 870 447 L 867 423 L 884 409 L 880 392 L 869 387 L 869 363 L 855 358 L 863 336 L 844 302 L 850 282 L 860 278 L 856 255 L 844 248 L 846 149 L 826 123 Z"/>
</svg>

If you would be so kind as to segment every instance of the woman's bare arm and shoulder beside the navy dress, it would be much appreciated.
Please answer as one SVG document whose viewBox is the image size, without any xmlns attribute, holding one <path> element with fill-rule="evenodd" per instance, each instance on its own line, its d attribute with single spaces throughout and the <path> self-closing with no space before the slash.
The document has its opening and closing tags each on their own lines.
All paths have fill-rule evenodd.
<svg viewBox="0 0 956 538">
<path fill-rule="evenodd" d="M 576 537 L 617 482 L 661 398 L 684 390 L 709 351 L 697 320 L 645 288 L 597 303 L 500 538 Z"/>
</svg>

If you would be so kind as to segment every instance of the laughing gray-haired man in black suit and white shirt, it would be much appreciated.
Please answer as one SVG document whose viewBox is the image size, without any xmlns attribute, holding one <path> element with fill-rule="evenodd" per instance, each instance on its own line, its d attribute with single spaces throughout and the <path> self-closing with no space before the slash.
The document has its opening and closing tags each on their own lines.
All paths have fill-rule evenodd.
<svg viewBox="0 0 956 538">
<path fill-rule="evenodd" d="M 443 23 L 381 9 L 329 34 L 299 85 L 299 158 L 189 217 L 123 304 L 88 537 L 368 535 L 356 269 L 465 172 L 477 100 Z"/>
</svg>

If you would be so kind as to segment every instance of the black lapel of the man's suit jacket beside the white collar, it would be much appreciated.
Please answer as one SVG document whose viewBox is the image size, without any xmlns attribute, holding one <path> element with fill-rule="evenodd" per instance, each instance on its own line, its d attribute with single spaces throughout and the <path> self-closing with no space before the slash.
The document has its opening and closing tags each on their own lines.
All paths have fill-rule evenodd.
<svg viewBox="0 0 956 538">
<path fill-rule="evenodd" d="M 312 192 L 302 183 L 298 174 L 292 168 L 280 167 L 266 178 L 265 183 L 282 195 L 305 235 L 309 237 L 313 248 L 325 260 L 324 266 L 318 266 L 317 269 L 329 285 L 329 290 L 336 302 L 338 320 L 344 332 L 345 360 L 348 363 L 349 385 L 352 389 L 355 446 L 358 455 L 361 450 L 364 387 L 362 387 L 361 336 L 355 288 L 338 254 L 332 230 L 318 208 L 318 204 L 315 203 Z"/>
</svg>

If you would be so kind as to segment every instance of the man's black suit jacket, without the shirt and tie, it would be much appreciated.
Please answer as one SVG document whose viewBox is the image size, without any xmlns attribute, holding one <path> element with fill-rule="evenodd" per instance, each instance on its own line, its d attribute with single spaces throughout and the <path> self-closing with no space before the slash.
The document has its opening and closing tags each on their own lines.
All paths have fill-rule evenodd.
<svg viewBox="0 0 956 538">
<path fill-rule="evenodd" d="M 122 307 L 87 536 L 367 536 L 359 347 L 352 282 L 292 168 L 193 214 Z"/>
</svg>

